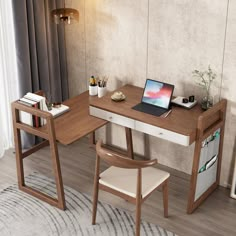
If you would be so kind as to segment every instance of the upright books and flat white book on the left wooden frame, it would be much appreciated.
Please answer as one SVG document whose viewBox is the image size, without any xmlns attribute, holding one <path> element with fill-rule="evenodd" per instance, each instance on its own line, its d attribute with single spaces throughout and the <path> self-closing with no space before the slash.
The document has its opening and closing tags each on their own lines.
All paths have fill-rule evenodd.
<svg viewBox="0 0 236 236">
<path fill-rule="evenodd" d="M 58 108 L 52 107 L 52 109 L 49 111 L 46 104 L 46 98 L 30 92 L 27 93 L 24 97 L 20 98 L 18 102 L 26 106 L 50 112 L 53 117 L 57 117 L 64 112 L 69 111 L 69 107 L 62 104 Z M 46 124 L 46 120 L 44 118 L 32 115 L 24 111 L 20 111 L 20 121 L 36 128 Z"/>
</svg>

